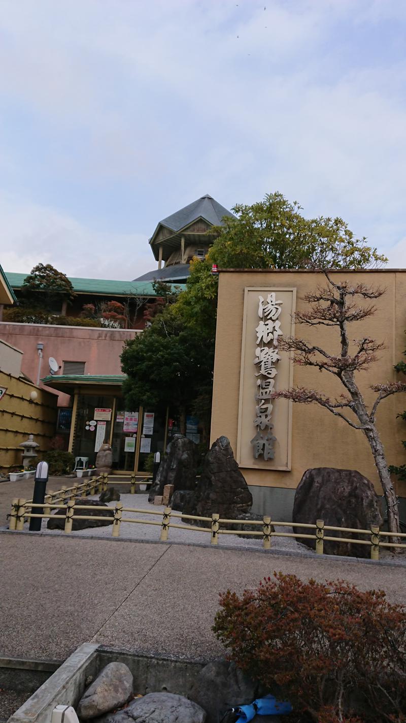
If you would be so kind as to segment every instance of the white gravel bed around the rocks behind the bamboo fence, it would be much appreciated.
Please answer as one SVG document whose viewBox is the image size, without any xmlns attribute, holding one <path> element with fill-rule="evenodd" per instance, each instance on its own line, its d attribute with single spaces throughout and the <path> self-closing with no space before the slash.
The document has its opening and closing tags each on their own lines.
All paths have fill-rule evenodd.
<svg viewBox="0 0 406 723">
<path fill-rule="evenodd" d="M 98 500 L 98 495 L 88 497 L 89 500 Z M 149 510 L 159 512 L 163 514 L 163 505 L 151 505 L 148 502 L 148 495 L 121 495 L 121 500 L 124 508 L 136 508 L 139 510 Z M 114 508 L 116 502 L 108 502 L 108 507 Z M 131 519 L 146 519 L 151 521 L 161 521 L 160 515 L 146 515 L 145 513 L 137 512 L 124 512 L 123 518 Z M 172 523 L 186 527 L 186 523 L 181 521 L 181 518 L 171 518 Z M 47 520 L 43 520 L 41 530 L 47 531 L 46 529 Z M 260 526 L 259 526 L 259 529 Z M 98 537 L 111 537 L 113 525 L 106 525 L 105 527 L 91 527 L 77 532 L 72 532 L 72 535 L 86 535 L 86 536 L 98 536 Z M 51 530 L 48 530 L 51 532 Z M 291 527 L 275 527 L 276 532 L 292 532 Z M 52 530 L 53 534 L 59 532 L 64 534 L 63 531 Z M 142 523 L 131 523 L 121 522 L 120 526 L 120 537 L 134 540 L 152 540 L 156 541 L 160 539 L 160 526 L 157 525 L 145 525 Z M 210 544 L 210 531 L 200 532 L 189 529 L 177 529 L 172 526 L 169 527 L 168 542 L 184 542 L 189 544 L 191 542 Z M 230 545 L 232 547 L 245 547 L 249 549 L 261 549 L 262 538 L 259 539 L 246 539 L 245 537 L 238 537 L 237 535 L 219 534 L 218 546 Z M 294 552 L 311 552 L 311 550 L 301 542 L 296 542 L 293 537 L 276 537 L 272 536 L 271 540 L 272 549 L 283 549 L 291 550 Z"/>
</svg>

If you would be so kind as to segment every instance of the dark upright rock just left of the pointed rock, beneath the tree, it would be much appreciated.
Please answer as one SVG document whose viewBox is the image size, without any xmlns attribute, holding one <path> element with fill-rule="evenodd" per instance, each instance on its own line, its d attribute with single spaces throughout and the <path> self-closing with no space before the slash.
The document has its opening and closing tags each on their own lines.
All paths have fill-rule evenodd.
<svg viewBox="0 0 406 723">
<path fill-rule="evenodd" d="M 173 490 L 194 489 L 199 452 L 191 440 L 183 435 L 173 435 L 168 444 L 166 455 L 157 471 L 157 479 L 150 489 L 149 502 L 155 495 L 163 495 L 165 484 L 173 484 Z"/>
</svg>

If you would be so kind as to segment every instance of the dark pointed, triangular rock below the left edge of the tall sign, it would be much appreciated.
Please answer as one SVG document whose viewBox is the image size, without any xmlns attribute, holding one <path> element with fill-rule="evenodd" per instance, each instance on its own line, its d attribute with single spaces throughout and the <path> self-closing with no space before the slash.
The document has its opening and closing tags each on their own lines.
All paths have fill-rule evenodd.
<svg viewBox="0 0 406 723">
<path fill-rule="evenodd" d="M 202 476 L 191 500 L 183 507 L 188 515 L 236 519 L 249 512 L 252 495 L 249 491 L 227 437 L 219 437 L 204 458 Z M 202 524 L 199 522 L 199 525 Z"/>
</svg>

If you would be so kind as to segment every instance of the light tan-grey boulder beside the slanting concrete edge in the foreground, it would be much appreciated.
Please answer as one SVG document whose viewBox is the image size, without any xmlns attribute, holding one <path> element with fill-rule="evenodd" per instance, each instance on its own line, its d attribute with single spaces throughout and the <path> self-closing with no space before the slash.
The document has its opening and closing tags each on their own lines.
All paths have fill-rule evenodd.
<svg viewBox="0 0 406 723">
<path fill-rule="evenodd" d="M 124 706 L 133 692 L 133 677 L 124 663 L 109 663 L 87 688 L 77 706 L 82 720 L 95 718 Z"/>
</svg>

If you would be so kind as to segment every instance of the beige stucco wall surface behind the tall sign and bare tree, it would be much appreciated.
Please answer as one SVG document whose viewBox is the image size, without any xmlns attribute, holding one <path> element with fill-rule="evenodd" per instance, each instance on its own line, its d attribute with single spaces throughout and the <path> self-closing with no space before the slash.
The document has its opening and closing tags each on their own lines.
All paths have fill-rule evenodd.
<svg viewBox="0 0 406 723">
<path fill-rule="evenodd" d="M 373 383 L 398 380 L 393 366 L 402 359 L 406 346 L 406 270 L 334 272 L 332 278 L 351 282 L 362 281 L 368 285 L 386 288 L 377 299 L 376 314 L 350 325 L 350 338 L 369 336 L 384 341 L 381 359 L 371 364 L 367 372 L 360 372 L 358 382 L 366 401 L 376 397 L 369 387 Z M 215 354 L 215 377 L 212 409 L 211 439 L 226 435 L 233 450 L 237 448 L 238 400 L 241 372 L 241 338 L 243 331 L 244 288 L 269 286 L 269 288 L 296 288 L 296 310 L 308 309 L 303 295 L 314 291 L 318 284 L 324 285 L 324 276 L 308 271 L 221 271 L 217 307 L 217 335 Z M 362 303 L 362 300 L 361 300 Z M 318 326 L 308 328 L 296 325 L 295 336 L 314 341 L 327 350 L 339 351 L 337 330 Z M 253 372 L 254 373 L 254 372 Z M 321 390 L 327 396 L 340 395 L 340 382 L 328 372 L 306 367 L 294 367 L 293 385 Z M 405 462 L 402 439 L 406 438 L 405 422 L 396 419 L 406 408 L 406 395 L 397 394 L 381 402 L 377 423 L 389 463 Z M 250 408 L 247 414 L 251 414 Z M 254 427 L 253 427 L 254 430 Z M 254 432 L 253 432 L 254 436 Z M 363 433 L 352 429 L 343 420 L 334 417 L 317 404 L 293 404 L 292 462 L 290 471 L 269 471 L 241 468 L 251 485 L 295 489 L 301 476 L 310 467 L 337 467 L 358 469 L 376 485 L 381 493 L 373 458 Z M 398 487 L 399 495 L 406 495 L 406 486 Z"/>
</svg>

